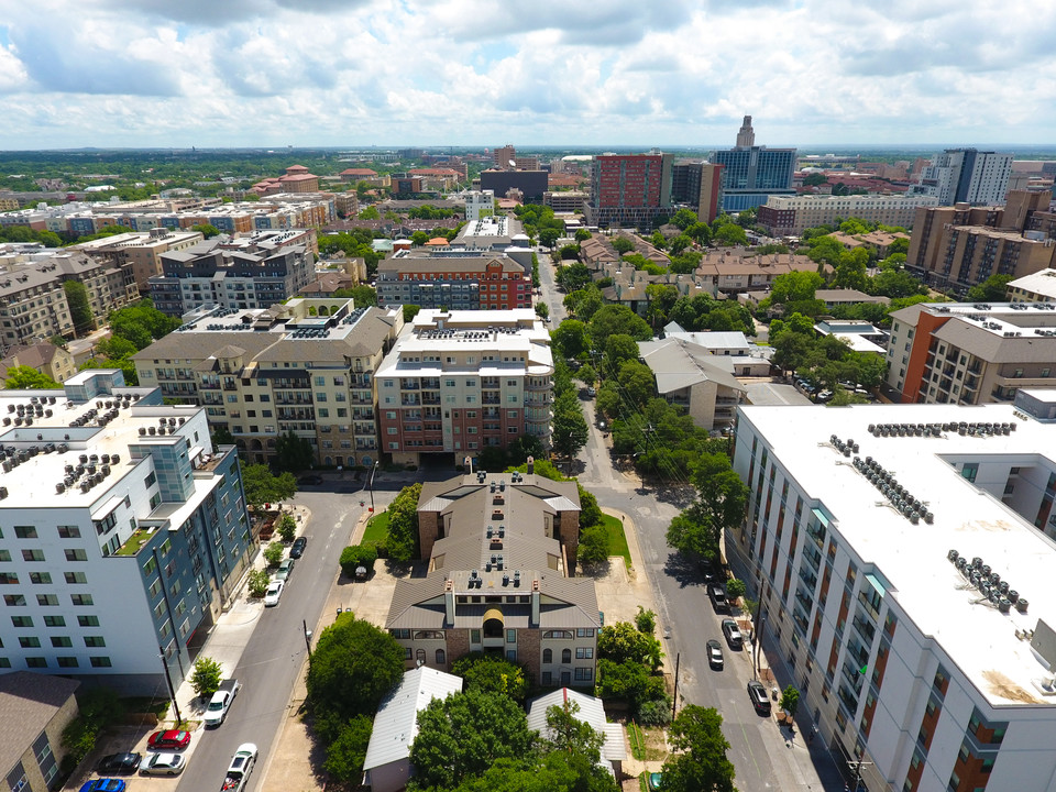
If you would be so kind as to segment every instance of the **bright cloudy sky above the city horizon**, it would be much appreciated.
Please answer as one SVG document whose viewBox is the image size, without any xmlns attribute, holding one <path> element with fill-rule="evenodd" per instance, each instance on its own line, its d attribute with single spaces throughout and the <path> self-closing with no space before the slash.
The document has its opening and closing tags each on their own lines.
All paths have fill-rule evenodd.
<svg viewBox="0 0 1056 792">
<path fill-rule="evenodd" d="M 0 150 L 1056 142 L 1050 0 L 0 0 Z"/>
</svg>

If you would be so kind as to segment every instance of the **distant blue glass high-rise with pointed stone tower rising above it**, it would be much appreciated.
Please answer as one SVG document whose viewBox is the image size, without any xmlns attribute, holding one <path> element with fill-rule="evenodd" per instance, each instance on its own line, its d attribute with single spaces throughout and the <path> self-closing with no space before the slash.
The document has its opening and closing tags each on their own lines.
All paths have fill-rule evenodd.
<svg viewBox="0 0 1056 792">
<path fill-rule="evenodd" d="M 755 140 L 751 116 L 745 116 L 737 145 L 711 156 L 711 163 L 723 166 L 723 211 L 751 209 L 771 195 L 795 195 L 795 148 L 767 148 L 755 145 Z"/>
</svg>

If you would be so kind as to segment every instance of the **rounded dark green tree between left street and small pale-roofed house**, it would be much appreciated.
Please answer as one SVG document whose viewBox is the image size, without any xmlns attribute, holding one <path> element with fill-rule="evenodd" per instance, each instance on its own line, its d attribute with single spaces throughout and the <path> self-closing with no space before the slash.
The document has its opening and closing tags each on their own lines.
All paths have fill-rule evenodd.
<svg viewBox="0 0 1056 792">
<path fill-rule="evenodd" d="M 373 717 L 403 675 L 404 650 L 395 638 L 349 612 L 340 614 L 308 660 L 306 703 L 316 730 L 333 740 L 356 715 Z"/>
</svg>

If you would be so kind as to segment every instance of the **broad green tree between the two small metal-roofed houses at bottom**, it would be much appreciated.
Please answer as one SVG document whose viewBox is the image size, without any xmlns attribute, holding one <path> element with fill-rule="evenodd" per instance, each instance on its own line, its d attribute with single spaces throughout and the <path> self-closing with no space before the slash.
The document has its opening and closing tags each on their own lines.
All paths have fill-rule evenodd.
<svg viewBox="0 0 1056 792">
<path fill-rule="evenodd" d="M 418 713 L 408 789 L 452 789 L 499 759 L 530 761 L 538 736 L 525 711 L 498 693 L 466 691 L 433 698 Z"/>
</svg>

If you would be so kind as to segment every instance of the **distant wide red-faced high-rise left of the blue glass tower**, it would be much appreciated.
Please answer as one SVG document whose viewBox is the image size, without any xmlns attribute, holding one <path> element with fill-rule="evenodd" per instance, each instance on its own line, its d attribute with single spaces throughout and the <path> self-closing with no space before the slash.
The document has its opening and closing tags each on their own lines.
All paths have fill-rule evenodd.
<svg viewBox="0 0 1056 792">
<path fill-rule="evenodd" d="M 650 228 L 671 209 L 671 154 L 602 154 L 591 169 L 586 218 L 594 226 Z"/>
</svg>

